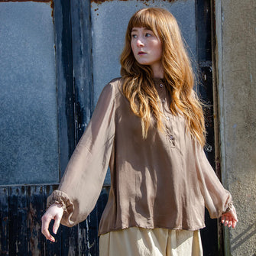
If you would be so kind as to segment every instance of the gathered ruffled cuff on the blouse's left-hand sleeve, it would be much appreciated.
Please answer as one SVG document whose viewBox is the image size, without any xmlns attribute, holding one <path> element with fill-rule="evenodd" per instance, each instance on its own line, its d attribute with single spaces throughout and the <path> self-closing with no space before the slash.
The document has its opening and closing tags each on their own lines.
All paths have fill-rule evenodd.
<svg viewBox="0 0 256 256">
<path fill-rule="evenodd" d="M 53 193 L 47 198 L 47 209 L 54 203 L 60 204 L 64 212 L 67 212 L 68 208 L 73 209 L 73 203 L 70 201 L 69 196 L 63 191 L 54 190 Z"/>
</svg>

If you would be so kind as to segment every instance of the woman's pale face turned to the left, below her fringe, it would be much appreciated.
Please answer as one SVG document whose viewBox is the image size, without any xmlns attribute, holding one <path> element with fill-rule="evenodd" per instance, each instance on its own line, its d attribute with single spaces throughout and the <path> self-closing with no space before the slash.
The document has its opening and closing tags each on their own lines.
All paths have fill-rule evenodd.
<svg viewBox="0 0 256 256">
<path fill-rule="evenodd" d="M 141 65 L 151 66 L 154 76 L 162 70 L 162 43 L 155 34 L 147 28 L 132 28 L 131 50 L 135 60 Z"/>
</svg>

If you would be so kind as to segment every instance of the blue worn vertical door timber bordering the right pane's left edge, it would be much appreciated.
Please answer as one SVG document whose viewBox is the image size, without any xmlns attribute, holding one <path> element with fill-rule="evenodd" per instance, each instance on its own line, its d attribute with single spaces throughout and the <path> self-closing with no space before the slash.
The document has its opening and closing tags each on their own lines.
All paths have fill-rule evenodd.
<svg viewBox="0 0 256 256">
<path fill-rule="evenodd" d="M 76 142 L 93 111 L 92 29 L 90 1 L 70 2 L 73 44 L 73 86 L 76 96 Z"/>
</svg>

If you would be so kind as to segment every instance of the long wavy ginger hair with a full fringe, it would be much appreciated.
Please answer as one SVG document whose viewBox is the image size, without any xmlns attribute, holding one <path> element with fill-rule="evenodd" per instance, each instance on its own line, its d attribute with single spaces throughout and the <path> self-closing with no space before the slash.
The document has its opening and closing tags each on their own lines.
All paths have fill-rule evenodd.
<svg viewBox="0 0 256 256">
<path fill-rule="evenodd" d="M 121 75 L 123 92 L 129 100 L 131 110 L 141 118 L 142 135 L 147 138 L 151 116 L 162 130 L 159 96 L 154 87 L 154 76 L 150 66 L 141 65 L 131 50 L 132 28 L 147 28 L 157 36 L 162 44 L 161 63 L 164 67 L 164 82 L 171 96 L 170 111 L 173 115 L 183 115 L 193 138 L 205 144 L 205 125 L 202 104 L 193 90 L 194 74 L 190 58 L 186 53 L 180 28 L 169 11 L 162 8 L 144 8 L 130 19 L 122 51 Z"/>
</svg>

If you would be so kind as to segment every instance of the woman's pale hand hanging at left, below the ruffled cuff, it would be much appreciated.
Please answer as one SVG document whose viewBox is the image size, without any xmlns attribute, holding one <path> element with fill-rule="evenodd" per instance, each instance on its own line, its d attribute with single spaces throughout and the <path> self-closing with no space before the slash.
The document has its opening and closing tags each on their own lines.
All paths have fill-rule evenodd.
<svg viewBox="0 0 256 256">
<path fill-rule="evenodd" d="M 53 238 L 52 235 L 50 235 L 49 232 L 49 224 L 52 219 L 54 219 L 53 224 L 53 233 L 57 234 L 58 228 L 60 226 L 60 220 L 63 215 L 63 208 L 60 204 L 54 203 L 52 206 L 50 206 L 47 211 L 42 216 L 42 228 L 41 232 L 44 234 L 44 236 L 50 240 L 55 241 L 55 238 Z"/>
</svg>

